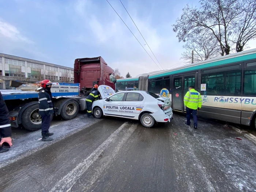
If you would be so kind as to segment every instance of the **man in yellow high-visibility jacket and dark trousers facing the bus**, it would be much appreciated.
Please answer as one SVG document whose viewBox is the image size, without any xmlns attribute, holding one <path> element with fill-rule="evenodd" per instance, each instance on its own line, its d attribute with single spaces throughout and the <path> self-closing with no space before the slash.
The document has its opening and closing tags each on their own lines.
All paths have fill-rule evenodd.
<svg viewBox="0 0 256 192">
<path fill-rule="evenodd" d="M 190 86 L 189 91 L 186 93 L 184 97 L 184 105 L 187 107 L 187 122 L 186 125 L 190 126 L 190 116 L 192 113 L 194 128 L 197 129 L 197 116 L 196 112 L 202 107 L 202 98 L 199 92 L 195 90 L 195 87 Z"/>
</svg>

